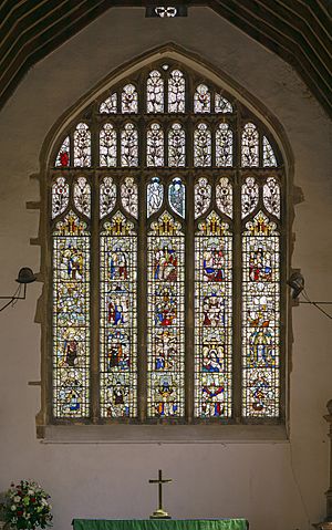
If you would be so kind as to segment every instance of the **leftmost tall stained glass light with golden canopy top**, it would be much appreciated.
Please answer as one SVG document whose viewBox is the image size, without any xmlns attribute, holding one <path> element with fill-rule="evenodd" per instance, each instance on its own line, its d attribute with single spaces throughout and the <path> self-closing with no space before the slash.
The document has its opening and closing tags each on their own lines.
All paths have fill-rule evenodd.
<svg viewBox="0 0 332 530">
<path fill-rule="evenodd" d="M 53 415 L 90 414 L 90 233 L 70 211 L 53 233 Z"/>
</svg>

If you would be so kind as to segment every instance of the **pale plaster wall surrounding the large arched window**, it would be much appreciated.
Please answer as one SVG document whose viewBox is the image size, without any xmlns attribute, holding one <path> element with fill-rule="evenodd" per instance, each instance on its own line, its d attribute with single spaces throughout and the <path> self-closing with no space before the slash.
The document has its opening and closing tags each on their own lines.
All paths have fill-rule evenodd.
<svg viewBox="0 0 332 530">
<path fill-rule="evenodd" d="M 329 121 L 289 65 L 217 17 L 193 8 L 187 19 L 145 19 L 143 9 L 112 9 L 33 67 L 0 115 L 0 293 L 11 294 L 22 266 L 38 271 L 39 215 L 25 209 L 39 190 L 28 176 L 58 117 L 114 67 L 174 41 L 224 70 L 283 125 L 295 160 L 293 267 L 308 292 L 332 300 Z M 0 315 L 0 490 L 34 478 L 52 495 L 54 529 L 73 517 L 145 518 L 158 468 L 175 479 L 166 505 L 175 518 L 246 517 L 252 530 L 309 530 L 324 516 L 328 488 L 325 403 L 332 397 L 331 322 L 313 308 L 293 310 L 290 443 L 44 445 L 35 438 L 41 284 Z"/>
</svg>

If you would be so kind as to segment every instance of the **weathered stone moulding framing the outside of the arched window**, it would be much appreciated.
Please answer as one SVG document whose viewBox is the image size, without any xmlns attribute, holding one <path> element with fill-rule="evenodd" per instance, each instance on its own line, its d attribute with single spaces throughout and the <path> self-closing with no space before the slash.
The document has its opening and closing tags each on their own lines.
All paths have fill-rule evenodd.
<svg viewBox="0 0 332 530">
<path fill-rule="evenodd" d="M 210 82 L 215 83 L 216 85 L 226 90 L 229 94 L 234 95 L 240 103 L 242 103 L 249 111 L 251 111 L 270 131 L 271 135 L 273 136 L 278 148 L 283 158 L 284 163 L 284 172 L 286 172 L 286 195 L 290 197 L 290 201 L 287 205 L 284 210 L 286 212 L 286 227 L 287 227 L 287 235 L 286 235 L 286 247 L 283 248 L 283 252 L 286 253 L 286 270 L 283 276 L 288 273 L 290 270 L 290 257 L 292 253 L 292 237 L 291 237 L 291 225 L 293 221 L 293 204 L 297 202 L 297 199 L 292 199 L 294 191 L 292 187 L 293 181 L 293 155 L 290 143 L 287 138 L 287 134 L 279 123 L 279 121 L 271 114 L 271 112 L 260 102 L 258 101 L 255 95 L 250 94 L 246 89 L 240 86 L 237 82 L 231 80 L 228 74 L 224 73 L 222 71 L 216 69 L 211 63 L 208 63 L 206 60 L 203 60 L 197 54 L 194 54 L 175 43 L 168 43 L 160 48 L 149 50 L 146 53 L 134 58 L 129 62 L 122 64 L 117 69 L 115 69 L 111 74 L 108 74 L 105 79 L 103 79 L 94 89 L 92 89 L 87 94 L 83 95 L 72 107 L 70 107 L 65 113 L 56 121 L 53 125 L 46 138 L 43 143 L 41 154 L 40 154 L 40 174 L 33 175 L 32 177 L 38 178 L 40 181 L 40 204 L 38 202 L 30 202 L 28 204 L 28 208 L 35 208 L 40 209 L 40 228 L 39 228 L 39 237 L 37 239 L 32 239 L 32 245 L 40 245 L 42 247 L 41 252 L 41 280 L 45 281 L 49 273 L 49 264 L 46 256 L 50 251 L 49 249 L 49 241 L 48 241 L 48 185 L 45 184 L 45 175 L 48 168 L 50 167 L 51 159 L 54 157 L 56 142 L 59 138 L 63 136 L 66 128 L 69 128 L 72 123 L 75 121 L 76 116 L 79 116 L 90 104 L 92 104 L 95 100 L 97 100 L 104 92 L 111 89 L 116 83 L 121 82 L 122 79 L 128 77 L 129 75 L 134 74 L 138 70 L 148 66 L 149 63 L 157 61 L 157 60 L 174 60 L 180 62 L 184 66 L 189 67 L 191 71 L 197 72 L 198 74 L 203 75 L 205 79 L 209 80 Z M 286 282 L 286 276 L 282 278 L 282 282 Z M 42 324 L 41 330 L 41 411 L 37 415 L 37 436 L 38 438 L 43 438 L 46 440 L 55 440 L 55 441 L 76 441 L 77 440 L 77 432 L 75 432 L 75 426 L 72 428 L 68 428 L 68 426 L 52 426 L 48 425 L 48 417 L 46 417 L 46 409 L 48 409 L 48 399 L 49 399 L 49 388 L 46 381 L 50 377 L 49 371 L 51 363 L 48 362 L 46 356 L 49 355 L 49 347 L 48 347 L 48 332 L 45 330 L 46 325 L 46 308 L 50 306 L 48 300 L 48 289 L 43 289 L 43 293 L 38 301 L 37 306 L 37 314 L 35 321 Z M 287 303 L 287 297 L 284 297 L 284 301 Z M 286 362 L 284 365 L 290 365 L 290 346 L 291 346 L 291 312 L 290 312 L 290 304 L 287 303 L 287 309 L 284 311 L 287 318 L 287 326 L 286 326 L 286 344 L 284 344 L 284 352 L 286 352 Z M 284 322 L 282 323 L 284 325 Z M 286 368 L 286 372 L 288 370 Z M 286 380 L 286 388 L 288 388 L 288 382 Z M 286 403 L 288 403 L 286 392 Z M 287 407 L 286 407 L 286 427 L 287 427 Z M 116 432 L 114 430 L 114 427 Z M 170 427 L 168 430 L 167 427 Z M 206 426 L 203 426 L 206 429 Z M 274 439 L 274 440 L 284 440 L 287 437 L 287 428 L 281 430 L 278 426 L 270 426 L 269 432 L 267 430 L 266 426 L 251 426 L 251 425 L 242 425 L 235 426 L 230 425 L 228 433 L 225 432 L 222 435 L 217 433 L 216 426 L 210 426 L 209 434 L 205 434 L 204 436 L 199 433 L 199 426 L 195 425 L 186 425 L 186 426 L 153 426 L 153 432 L 151 427 L 147 425 L 138 425 L 138 426 L 125 426 L 125 425 L 117 425 L 117 426 L 85 426 L 84 427 L 84 435 L 82 440 L 87 441 L 95 441 L 95 440 L 105 440 L 105 441 L 222 441 L 222 440 L 242 440 L 242 439 Z M 255 433 L 252 427 L 255 427 Z M 113 429 L 112 438 L 110 437 L 110 430 Z M 132 433 L 128 433 L 128 428 L 132 429 Z M 186 433 L 184 432 L 186 429 Z M 103 433 L 101 432 L 103 429 Z M 108 434 L 107 432 L 108 430 Z M 224 429 L 222 429 L 224 430 Z M 80 429 L 82 433 L 82 429 Z M 81 433 L 79 434 L 79 438 L 81 437 Z"/>
</svg>

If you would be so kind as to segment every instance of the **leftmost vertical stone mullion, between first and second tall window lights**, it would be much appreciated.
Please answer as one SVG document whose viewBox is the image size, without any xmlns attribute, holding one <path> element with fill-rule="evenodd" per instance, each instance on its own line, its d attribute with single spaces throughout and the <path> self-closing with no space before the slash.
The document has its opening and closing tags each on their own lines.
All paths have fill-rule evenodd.
<svg viewBox="0 0 332 530">
<path fill-rule="evenodd" d="M 97 135 L 94 135 L 96 139 Z M 93 152 L 96 147 L 93 145 Z M 90 249 L 90 340 L 91 340 L 91 415 L 92 422 L 97 423 L 100 419 L 100 325 L 95 322 L 101 322 L 100 319 L 100 194 L 97 175 L 92 174 L 91 183 L 91 249 Z M 95 293 L 98 293 L 95 295 Z"/>
</svg>

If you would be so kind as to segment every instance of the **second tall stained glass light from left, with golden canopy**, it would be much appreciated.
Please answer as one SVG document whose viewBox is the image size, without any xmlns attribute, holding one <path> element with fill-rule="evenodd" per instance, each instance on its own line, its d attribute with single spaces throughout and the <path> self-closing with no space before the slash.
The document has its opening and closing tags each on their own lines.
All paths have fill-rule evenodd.
<svg viewBox="0 0 332 530">
<path fill-rule="evenodd" d="M 101 415 L 137 416 L 137 238 L 117 211 L 101 233 Z"/>
</svg>

